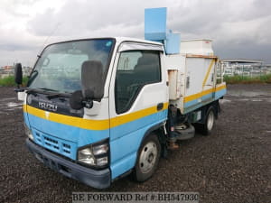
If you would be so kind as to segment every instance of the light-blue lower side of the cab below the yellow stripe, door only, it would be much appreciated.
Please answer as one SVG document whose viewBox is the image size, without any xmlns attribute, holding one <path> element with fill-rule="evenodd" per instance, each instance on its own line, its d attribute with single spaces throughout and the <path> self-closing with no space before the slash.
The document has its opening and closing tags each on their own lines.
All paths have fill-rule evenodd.
<svg viewBox="0 0 271 203">
<path fill-rule="evenodd" d="M 167 110 L 148 115 L 111 129 L 110 152 L 112 179 L 135 166 L 136 154 L 148 129 L 167 118 Z"/>
</svg>

